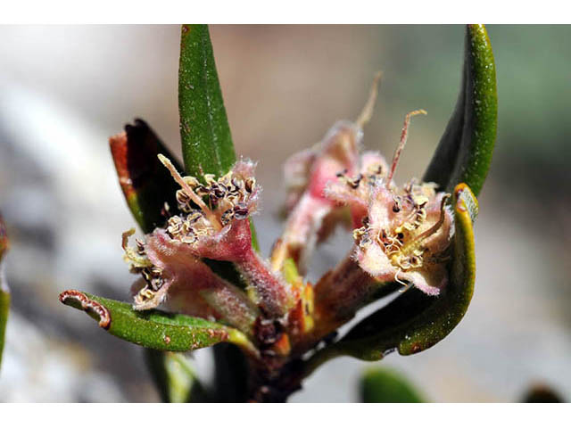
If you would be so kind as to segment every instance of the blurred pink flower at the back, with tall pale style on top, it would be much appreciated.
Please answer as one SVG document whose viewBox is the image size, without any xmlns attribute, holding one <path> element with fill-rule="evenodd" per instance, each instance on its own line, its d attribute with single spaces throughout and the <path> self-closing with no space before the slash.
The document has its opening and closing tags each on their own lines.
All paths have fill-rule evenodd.
<svg viewBox="0 0 571 428">
<path fill-rule="evenodd" d="M 360 169 L 362 127 L 372 115 L 380 77 L 377 73 L 358 119 L 338 121 L 319 144 L 285 162 L 285 206 L 290 215 L 272 254 L 274 270 L 292 258 L 303 273 L 316 243 L 327 239 L 335 225 L 346 219 L 345 210 L 340 210 L 325 190 L 340 174 L 353 175 Z"/>
</svg>

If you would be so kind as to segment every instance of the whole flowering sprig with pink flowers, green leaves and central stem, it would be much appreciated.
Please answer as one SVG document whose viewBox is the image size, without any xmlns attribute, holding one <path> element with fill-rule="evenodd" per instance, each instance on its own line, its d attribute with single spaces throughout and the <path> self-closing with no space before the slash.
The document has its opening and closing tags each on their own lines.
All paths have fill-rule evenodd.
<svg viewBox="0 0 571 428">
<path fill-rule="evenodd" d="M 183 26 L 184 167 L 142 120 L 110 140 L 128 207 L 145 233 L 131 240 L 131 229 L 122 237 L 138 276 L 133 303 L 75 290 L 60 300 L 145 346 L 165 400 L 285 400 L 329 358 L 375 360 L 440 342 L 472 296 L 475 194 L 495 140 L 495 70 L 485 29 L 467 28 L 459 103 L 422 180 L 398 185 L 393 175 L 410 119 L 426 111 L 406 116 L 390 163 L 362 147 L 379 78 L 358 119 L 336 123 L 318 145 L 285 162 L 289 215 L 265 259 L 251 219 L 261 188 L 255 164 L 236 161 L 208 29 Z M 310 284 L 310 256 L 335 226 L 352 231 L 352 248 Z M 337 338 L 359 309 L 397 291 Z M 217 373 L 209 386 L 178 352 L 211 345 Z"/>
</svg>

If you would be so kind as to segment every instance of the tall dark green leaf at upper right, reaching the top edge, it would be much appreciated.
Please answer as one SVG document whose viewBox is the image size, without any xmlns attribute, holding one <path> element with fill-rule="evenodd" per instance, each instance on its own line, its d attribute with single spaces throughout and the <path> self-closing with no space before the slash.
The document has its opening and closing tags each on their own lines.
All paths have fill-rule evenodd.
<svg viewBox="0 0 571 428">
<path fill-rule="evenodd" d="M 433 181 L 447 192 L 466 183 L 477 196 L 492 162 L 497 123 L 492 45 L 484 25 L 468 25 L 458 101 L 424 181 Z"/>
</svg>

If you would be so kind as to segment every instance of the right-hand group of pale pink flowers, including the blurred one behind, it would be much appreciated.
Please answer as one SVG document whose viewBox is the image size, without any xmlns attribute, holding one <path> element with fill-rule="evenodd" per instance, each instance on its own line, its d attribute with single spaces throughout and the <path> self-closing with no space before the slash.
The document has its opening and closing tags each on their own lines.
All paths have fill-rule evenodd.
<svg viewBox="0 0 571 428">
<path fill-rule="evenodd" d="M 319 145 L 319 153 L 302 152 L 286 163 L 290 183 L 305 183 L 290 193 L 294 211 L 286 230 L 287 254 L 298 247 L 310 251 L 323 230 L 332 229 L 331 216 L 349 209 L 355 248 L 350 257 L 379 283 L 415 285 L 427 294 L 438 294 L 446 285 L 445 261 L 452 235 L 452 216 L 445 202 L 448 193 L 438 193 L 434 183 L 413 179 L 397 186 L 393 174 L 406 143 L 410 118 L 426 111 L 412 111 L 405 119 L 401 142 L 389 168 L 377 152 L 359 155 L 362 132 L 356 124 L 336 125 Z M 310 166 L 301 168 L 305 161 Z M 294 165 L 298 165 L 294 168 Z M 305 180 L 301 171 L 305 171 Z M 303 246 L 304 244 L 304 246 Z M 336 284 L 337 289 L 342 288 Z M 333 291 L 331 291 L 333 292 Z"/>
</svg>

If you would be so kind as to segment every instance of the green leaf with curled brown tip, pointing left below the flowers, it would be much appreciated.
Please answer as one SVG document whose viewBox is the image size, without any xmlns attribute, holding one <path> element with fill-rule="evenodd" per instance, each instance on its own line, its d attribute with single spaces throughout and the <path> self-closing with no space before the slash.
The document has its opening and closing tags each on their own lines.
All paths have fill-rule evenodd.
<svg viewBox="0 0 571 428">
<path fill-rule="evenodd" d="M 87 292 L 60 294 L 63 304 L 85 310 L 99 326 L 128 342 L 153 350 L 198 350 L 219 342 L 234 342 L 255 352 L 252 343 L 235 328 L 203 318 L 169 314 L 160 310 L 136 311 L 128 303 L 103 299 Z"/>
</svg>

